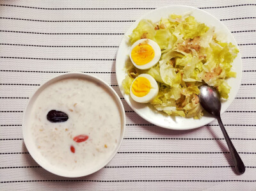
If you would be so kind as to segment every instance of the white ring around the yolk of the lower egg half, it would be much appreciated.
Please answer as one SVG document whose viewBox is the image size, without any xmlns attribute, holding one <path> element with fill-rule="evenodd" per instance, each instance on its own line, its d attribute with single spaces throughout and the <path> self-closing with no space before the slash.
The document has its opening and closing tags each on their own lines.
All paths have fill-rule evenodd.
<svg viewBox="0 0 256 191">
<path fill-rule="evenodd" d="M 149 80 L 150 85 L 151 85 L 151 89 L 148 92 L 147 95 L 143 96 L 143 97 L 138 97 L 136 95 L 134 95 L 132 93 L 132 84 L 133 82 L 138 78 L 138 77 L 145 77 L 146 79 Z M 156 98 L 157 94 L 158 94 L 158 84 L 156 82 L 156 80 L 149 74 L 147 73 L 142 73 L 141 75 L 138 75 L 138 77 L 136 77 L 136 79 L 133 80 L 132 84 L 131 84 L 131 88 L 130 88 L 130 95 L 132 100 L 134 100 L 135 102 L 139 102 L 139 103 L 148 103 L 151 102 L 152 100 L 154 100 L 154 98 Z"/>
</svg>

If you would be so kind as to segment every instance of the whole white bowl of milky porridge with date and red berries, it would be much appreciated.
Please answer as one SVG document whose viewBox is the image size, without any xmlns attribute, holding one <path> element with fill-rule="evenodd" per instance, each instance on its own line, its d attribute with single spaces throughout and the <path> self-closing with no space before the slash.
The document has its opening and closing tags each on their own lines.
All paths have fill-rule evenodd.
<svg viewBox="0 0 256 191">
<path fill-rule="evenodd" d="M 117 153 L 124 131 L 120 97 L 106 82 L 84 73 L 65 73 L 42 84 L 22 123 L 31 157 L 65 177 L 102 169 Z"/>
</svg>

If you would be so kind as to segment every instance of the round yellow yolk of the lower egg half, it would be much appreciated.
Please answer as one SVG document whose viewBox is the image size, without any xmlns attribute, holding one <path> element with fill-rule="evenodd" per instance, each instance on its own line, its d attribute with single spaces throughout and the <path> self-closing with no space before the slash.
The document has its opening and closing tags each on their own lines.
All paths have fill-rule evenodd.
<svg viewBox="0 0 256 191">
<path fill-rule="evenodd" d="M 137 97 L 143 97 L 149 93 L 151 89 L 150 81 L 145 77 L 138 77 L 132 83 L 132 93 Z"/>
</svg>

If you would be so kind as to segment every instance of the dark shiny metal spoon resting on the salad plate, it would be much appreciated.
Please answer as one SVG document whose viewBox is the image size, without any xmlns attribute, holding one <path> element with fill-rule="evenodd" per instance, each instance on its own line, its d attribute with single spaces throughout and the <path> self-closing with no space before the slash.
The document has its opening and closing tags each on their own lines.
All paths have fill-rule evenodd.
<svg viewBox="0 0 256 191">
<path fill-rule="evenodd" d="M 199 100 L 202 107 L 205 109 L 205 111 L 212 114 L 218 120 L 221 131 L 225 137 L 225 140 L 228 145 L 228 149 L 232 156 L 237 174 L 243 174 L 245 171 L 244 163 L 239 157 L 236 151 L 236 148 L 232 144 L 230 138 L 228 137 L 228 134 L 220 118 L 220 110 L 221 110 L 220 95 L 218 94 L 215 88 L 212 88 L 210 86 L 205 86 L 205 85 L 200 86 L 199 89 L 200 89 Z"/>
</svg>

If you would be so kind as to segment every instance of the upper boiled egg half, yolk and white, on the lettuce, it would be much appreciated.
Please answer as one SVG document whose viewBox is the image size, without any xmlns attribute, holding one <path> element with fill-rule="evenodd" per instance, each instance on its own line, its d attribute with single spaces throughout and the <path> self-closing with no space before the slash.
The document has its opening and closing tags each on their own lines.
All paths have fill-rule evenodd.
<svg viewBox="0 0 256 191">
<path fill-rule="evenodd" d="M 133 65 L 146 70 L 156 65 L 161 57 L 161 49 L 156 42 L 150 39 L 140 39 L 133 43 L 130 58 Z"/>
</svg>

